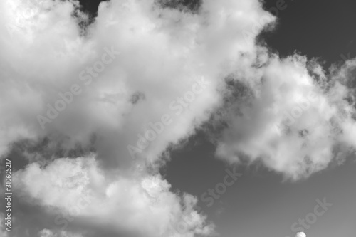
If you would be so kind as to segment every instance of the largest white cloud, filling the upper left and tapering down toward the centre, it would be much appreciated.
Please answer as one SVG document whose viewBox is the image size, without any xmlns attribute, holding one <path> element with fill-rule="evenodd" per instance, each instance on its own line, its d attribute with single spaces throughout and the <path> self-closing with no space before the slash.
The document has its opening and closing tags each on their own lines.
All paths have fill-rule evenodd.
<svg viewBox="0 0 356 237">
<path fill-rule="evenodd" d="M 83 36 L 78 21 L 85 21 L 85 16 L 78 14 L 75 1 L 1 2 L 6 22 L 0 46 L 4 52 L 1 101 L 6 100 L 1 105 L 6 115 L 1 118 L 6 127 L 1 154 L 21 138 L 51 136 L 53 143 L 70 149 L 78 143 L 88 145 L 95 133 L 115 150 L 110 159 L 126 159 L 127 145 L 137 144 L 137 135 L 147 130 L 148 122 L 169 114 L 172 124 L 142 152 L 156 160 L 169 142 L 190 135 L 206 120 L 221 102 L 216 88 L 224 76 L 237 63 L 248 65 L 255 54 L 253 38 L 247 41 L 241 31 L 255 26 L 263 13 L 261 4 L 205 1 L 204 14 L 153 4 L 152 0 L 103 2 L 95 23 Z M 73 12 L 80 17 L 74 18 Z M 262 27 L 258 25 L 257 30 Z M 104 48 L 120 55 L 103 71 L 90 75 L 87 67 L 103 58 Z M 246 52 L 251 58 L 241 56 Z M 200 78 L 209 85 L 189 108 L 172 109 L 171 103 L 192 90 Z M 51 122 L 42 122 L 42 130 L 37 116 L 48 117 L 48 106 L 56 107 L 59 93 L 73 85 L 78 85 L 80 95 L 74 95 L 73 102 Z"/>
</svg>

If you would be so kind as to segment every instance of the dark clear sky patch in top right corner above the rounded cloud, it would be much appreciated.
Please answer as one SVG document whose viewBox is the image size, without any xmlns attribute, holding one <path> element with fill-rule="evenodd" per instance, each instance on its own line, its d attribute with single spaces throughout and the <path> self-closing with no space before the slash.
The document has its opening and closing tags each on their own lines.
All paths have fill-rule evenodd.
<svg viewBox="0 0 356 237">
<path fill-rule="evenodd" d="M 266 9 L 275 6 L 276 0 L 266 0 Z M 286 0 L 286 6 L 278 11 L 276 31 L 263 37 L 281 56 L 297 51 L 327 63 L 342 60 L 340 54 L 355 58 L 356 1 Z"/>
</svg>

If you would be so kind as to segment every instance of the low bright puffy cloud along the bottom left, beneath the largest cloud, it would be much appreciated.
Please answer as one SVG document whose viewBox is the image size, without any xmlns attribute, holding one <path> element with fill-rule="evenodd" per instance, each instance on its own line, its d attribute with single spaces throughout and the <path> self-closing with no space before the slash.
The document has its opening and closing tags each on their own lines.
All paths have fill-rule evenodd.
<svg viewBox="0 0 356 237">
<path fill-rule="evenodd" d="M 80 157 L 56 159 L 46 167 L 32 163 L 16 172 L 14 183 L 22 201 L 43 206 L 48 216 L 55 216 L 51 224 L 58 236 L 66 236 L 64 231 L 76 236 L 78 226 L 106 226 L 106 231 L 136 236 L 179 236 L 174 226 L 182 220 L 187 236 L 211 232 L 213 226 L 194 210 L 197 199 L 172 193 L 159 174 L 108 178 L 95 157 Z M 26 223 L 26 218 L 22 221 Z M 41 235 L 56 236 L 50 233 Z"/>
</svg>

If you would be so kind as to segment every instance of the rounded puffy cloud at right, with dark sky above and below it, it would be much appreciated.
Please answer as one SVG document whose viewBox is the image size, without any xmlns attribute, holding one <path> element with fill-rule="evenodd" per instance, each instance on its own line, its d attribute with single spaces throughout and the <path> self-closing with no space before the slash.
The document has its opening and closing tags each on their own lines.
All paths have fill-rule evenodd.
<svg viewBox="0 0 356 237">
<path fill-rule="evenodd" d="M 247 156 L 300 179 L 328 167 L 341 144 L 355 149 L 355 94 L 345 78 L 305 56 L 264 63 L 249 80 L 231 79 L 239 93 L 222 112 L 228 128 L 218 139 L 220 157 L 236 162 Z"/>
</svg>

